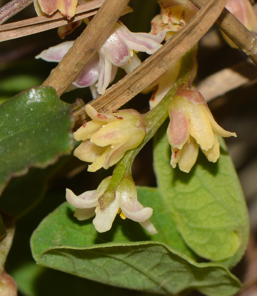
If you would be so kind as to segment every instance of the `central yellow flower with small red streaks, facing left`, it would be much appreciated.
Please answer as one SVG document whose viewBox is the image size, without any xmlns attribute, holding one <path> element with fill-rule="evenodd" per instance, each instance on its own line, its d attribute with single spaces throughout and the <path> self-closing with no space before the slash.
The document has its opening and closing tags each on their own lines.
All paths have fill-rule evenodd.
<svg viewBox="0 0 257 296">
<path fill-rule="evenodd" d="M 127 150 L 136 148 L 145 137 L 145 123 L 136 110 L 104 114 L 87 105 L 85 111 L 93 120 L 73 134 L 75 140 L 83 140 L 74 150 L 74 155 L 92 162 L 88 166 L 90 172 L 114 165 Z"/>
</svg>

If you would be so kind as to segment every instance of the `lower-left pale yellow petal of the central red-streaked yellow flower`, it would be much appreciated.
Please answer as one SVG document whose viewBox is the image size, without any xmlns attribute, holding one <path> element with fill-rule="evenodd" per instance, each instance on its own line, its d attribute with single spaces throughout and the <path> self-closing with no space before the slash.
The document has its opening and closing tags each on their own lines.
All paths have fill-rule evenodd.
<svg viewBox="0 0 257 296">
<path fill-rule="evenodd" d="M 91 143 L 90 140 L 86 140 L 74 150 L 74 156 L 80 160 L 91 163 L 101 157 L 105 150 L 106 147 L 96 146 L 95 144 Z"/>
</svg>

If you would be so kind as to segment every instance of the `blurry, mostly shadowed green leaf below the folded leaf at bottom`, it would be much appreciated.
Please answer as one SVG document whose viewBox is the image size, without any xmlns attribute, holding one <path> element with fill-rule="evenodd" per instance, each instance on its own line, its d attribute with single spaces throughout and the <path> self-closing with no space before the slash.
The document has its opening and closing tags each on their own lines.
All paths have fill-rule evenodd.
<svg viewBox="0 0 257 296">
<path fill-rule="evenodd" d="M 24 296 L 81 296 L 84 295 L 82 291 L 86 291 L 85 295 L 90 296 L 151 296 L 39 266 L 35 261 L 24 263 L 12 273 L 12 276 Z"/>
</svg>

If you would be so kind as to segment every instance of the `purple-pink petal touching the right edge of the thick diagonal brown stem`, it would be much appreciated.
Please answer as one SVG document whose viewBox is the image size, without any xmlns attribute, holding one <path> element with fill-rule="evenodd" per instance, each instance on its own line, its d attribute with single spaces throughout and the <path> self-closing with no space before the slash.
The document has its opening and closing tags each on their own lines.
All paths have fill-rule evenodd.
<svg viewBox="0 0 257 296">
<path fill-rule="evenodd" d="M 87 87 L 94 83 L 99 78 L 99 55 L 94 54 L 92 59 L 85 65 L 83 70 L 77 76 L 75 81 L 72 83 L 73 85 L 77 86 L 78 88 Z"/>
</svg>

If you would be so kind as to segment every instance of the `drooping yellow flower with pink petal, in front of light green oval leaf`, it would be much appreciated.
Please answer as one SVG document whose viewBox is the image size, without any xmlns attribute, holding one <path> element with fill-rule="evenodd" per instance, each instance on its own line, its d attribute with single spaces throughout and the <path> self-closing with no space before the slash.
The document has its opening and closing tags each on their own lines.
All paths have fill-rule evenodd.
<svg viewBox="0 0 257 296">
<path fill-rule="evenodd" d="M 209 161 L 220 156 L 218 137 L 235 136 L 221 128 L 214 120 L 203 96 L 196 89 L 181 89 L 169 105 L 170 123 L 167 136 L 171 145 L 173 168 L 188 173 L 196 162 L 198 147 Z"/>
</svg>

